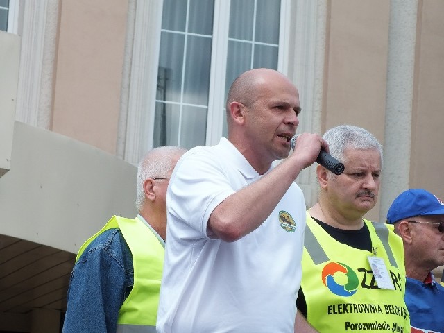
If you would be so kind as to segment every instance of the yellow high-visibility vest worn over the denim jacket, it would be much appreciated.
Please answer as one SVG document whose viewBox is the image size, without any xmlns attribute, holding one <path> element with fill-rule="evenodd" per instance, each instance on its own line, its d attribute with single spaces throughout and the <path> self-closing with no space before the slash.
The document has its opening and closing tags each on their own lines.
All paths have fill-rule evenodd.
<svg viewBox="0 0 444 333">
<path fill-rule="evenodd" d="M 110 221 L 80 247 L 76 261 L 87 246 L 105 230 L 119 228 L 133 255 L 134 284 L 119 310 L 117 333 L 155 333 L 164 246 L 137 217 L 112 216 Z M 94 310 L 92 310 L 94 311 Z"/>
</svg>

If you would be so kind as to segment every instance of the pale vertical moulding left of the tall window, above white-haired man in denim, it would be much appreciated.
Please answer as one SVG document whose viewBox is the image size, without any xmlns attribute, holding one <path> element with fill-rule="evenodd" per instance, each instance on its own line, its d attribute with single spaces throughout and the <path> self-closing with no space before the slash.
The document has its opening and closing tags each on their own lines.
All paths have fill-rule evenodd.
<svg viewBox="0 0 444 333">
<path fill-rule="evenodd" d="M 129 79 L 123 81 L 125 86 L 122 87 L 119 134 L 124 133 L 125 148 L 120 148 L 119 153 L 133 164 L 137 164 L 152 146 L 150 133 L 153 133 L 155 115 L 155 89 L 152 87 L 157 85 L 162 5 L 162 0 L 136 0 L 135 9 L 129 12 L 134 15 L 134 29 L 129 29 L 126 36 L 127 44 L 132 47 L 126 47 L 124 60 L 126 73 L 123 77 Z M 118 146 L 123 146 L 122 138 L 119 140 Z"/>
</svg>

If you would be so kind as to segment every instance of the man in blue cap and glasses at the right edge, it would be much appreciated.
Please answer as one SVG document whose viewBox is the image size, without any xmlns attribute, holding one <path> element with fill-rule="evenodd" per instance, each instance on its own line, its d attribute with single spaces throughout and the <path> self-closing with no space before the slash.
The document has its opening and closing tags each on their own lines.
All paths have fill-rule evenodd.
<svg viewBox="0 0 444 333">
<path fill-rule="evenodd" d="M 444 202 L 425 189 L 409 189 L 393 201 L 387 223 L 404 242 L 411 332 L 444 332 L 444 287 L 432 275 L 444 265 Z"/>
</svg>

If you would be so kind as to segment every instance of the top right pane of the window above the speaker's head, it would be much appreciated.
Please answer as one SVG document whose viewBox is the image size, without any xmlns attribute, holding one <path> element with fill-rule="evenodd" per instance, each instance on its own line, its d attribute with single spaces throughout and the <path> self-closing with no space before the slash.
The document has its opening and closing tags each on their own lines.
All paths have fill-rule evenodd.
<svg viewBox="0 0 444 333">
<path fill-rule="evenodd" d="M 257 0 L 255 42 L 279 44 L 280 0 Z"/>
</svg>

